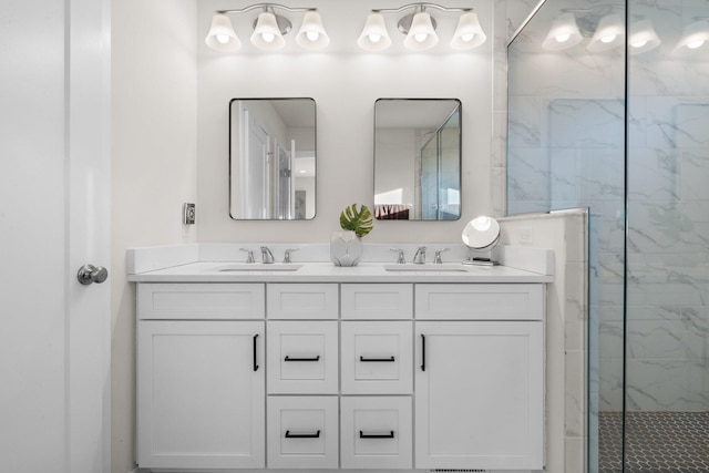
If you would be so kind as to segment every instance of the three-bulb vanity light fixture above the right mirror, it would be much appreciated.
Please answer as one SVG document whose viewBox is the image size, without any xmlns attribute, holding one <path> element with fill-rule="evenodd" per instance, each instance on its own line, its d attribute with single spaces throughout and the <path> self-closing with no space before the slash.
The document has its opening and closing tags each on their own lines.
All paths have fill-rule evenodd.
<svg viewBox="0 0 709 473">
<path fill-rule="evenodd" d="M 373 9 L 367 16 L 367 22 L 357 40 L 357 44 L 366 51 L 383 51 L 389 48 L 391 38 L 387 31 L 382 13 L 400 13 L 408 9 L 413 9 L 413 11 L 399 19 L 397 29 L 407 35 L 403 45 L 412 51 L 425 51 L 439 42 L 439 37 L 435 32 L 438 23 L 428 12 L 428 9 L 462 12 L 450 43 L 452 49 L 459 51 L 470 50 L 477 48 L 487 39 L 480 25 L 477 13 L 472 8 L 449 8 L 435 3 L 409 3 L 400 8 Z"/>
</svg>

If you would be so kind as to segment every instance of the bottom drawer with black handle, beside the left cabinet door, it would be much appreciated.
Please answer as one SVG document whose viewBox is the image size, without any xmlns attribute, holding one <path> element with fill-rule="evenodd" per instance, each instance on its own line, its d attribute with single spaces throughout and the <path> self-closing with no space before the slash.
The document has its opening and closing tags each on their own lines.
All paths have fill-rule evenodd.
<svg viewBox="0 0 709 473">
<path fill-rule="evenodd" d="M 338 467 L 337 397 L 268 398 L 269 469 Z"/>
</svg>

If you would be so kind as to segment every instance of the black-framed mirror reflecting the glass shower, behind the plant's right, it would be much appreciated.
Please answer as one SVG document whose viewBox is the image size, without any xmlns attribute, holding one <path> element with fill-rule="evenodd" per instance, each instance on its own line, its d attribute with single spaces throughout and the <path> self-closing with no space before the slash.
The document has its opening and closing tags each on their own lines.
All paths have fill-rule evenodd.
<svg viewBox="0 0 709 473">
<path fill-rule="evenodd" d="M 374 103 L 374 217 L 456 220 L 461 216 L 461 101 Z"/>
</svg>

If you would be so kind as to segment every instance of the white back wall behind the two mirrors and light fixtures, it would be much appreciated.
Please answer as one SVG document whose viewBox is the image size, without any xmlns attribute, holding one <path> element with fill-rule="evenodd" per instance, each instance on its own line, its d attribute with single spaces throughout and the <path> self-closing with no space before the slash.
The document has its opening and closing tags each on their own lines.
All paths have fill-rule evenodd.
<svg viewBox="0 0 709 473">
<path fill-rule="evenodd" d="M 208 31 L 214 10 L 225 4 L 220 0 L 198 3 L 201 38 Z M 381 8 L 381 1 L 317 0 L 308 6 L 320 9 L 332 37 L 332 51 L 304 53 L 296 47 L 286 53 L 265 54 L 250 51 L 245 44 L 240 53 L 219 54 L 199 41 L 199 241 L 329 241 L 331 232 L 339 229 L 342 208 L 352 203 L 373 208 L 373 112 L 374 101 L 380 97 L 462 101 L 463 215 L 458 222 L 438 224 L 379 222 L 367 241 L 459 241 L 463 223 L 490 208 L 491 41 L 464 53 L 450 53 L 444 45 L 436 47 L 434 53 L 424 54 L 362 53 L 351 44 L 354 44 L 368 11 Z M 480 1 L 474 6 L 483 29 L 491 34 L 492 6 Z M 238 30 L 237 19 L 235 28 Z M 441 27 L 439 30 L 443 31 Z M 400 41 L 395 37 L 393 40 Z M 247 34 L 242 34 L 242 41 L 248 43 Z M 234 97 L 269 96 L 316 100 L 318 202 L 312 220 L 235 222 L 229 218 L 227 105 Z"/>
</svg>

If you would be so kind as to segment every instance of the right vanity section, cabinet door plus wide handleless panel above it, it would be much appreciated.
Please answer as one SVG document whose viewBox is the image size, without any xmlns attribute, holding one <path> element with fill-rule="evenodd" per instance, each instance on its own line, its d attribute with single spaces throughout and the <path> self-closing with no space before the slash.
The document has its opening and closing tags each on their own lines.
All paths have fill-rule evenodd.
<svg viewBox="0 0 709 473">
<path fill-rule="evenodd" d="M 417 467 L 543 469 L 543 295 L 417 286 Z"/>
</svg>

